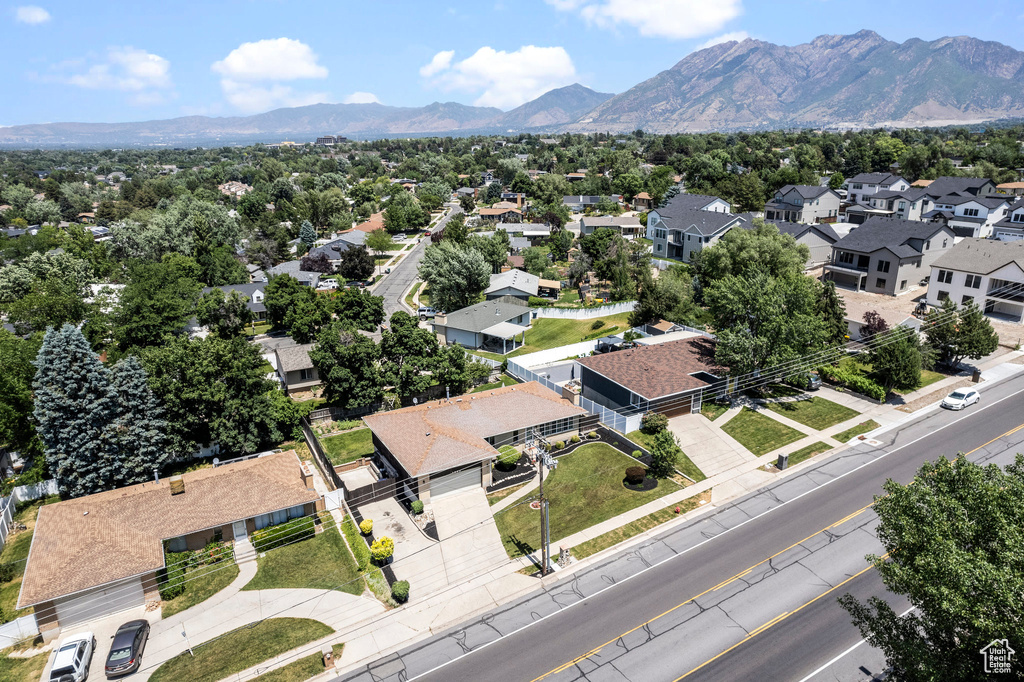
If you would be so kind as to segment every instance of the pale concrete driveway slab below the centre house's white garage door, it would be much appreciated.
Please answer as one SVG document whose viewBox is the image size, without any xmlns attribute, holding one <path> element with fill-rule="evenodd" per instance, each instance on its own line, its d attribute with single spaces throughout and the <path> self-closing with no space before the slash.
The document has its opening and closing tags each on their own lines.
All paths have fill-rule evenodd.
<svg viewBox="0 0 1024 682">
<path fill-rule="evenodd" d="M 431 498 L 430 506 L 450 585 L 508 562 L 482 487 Z"/>
</svg>

